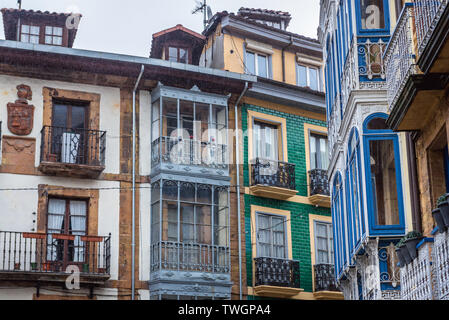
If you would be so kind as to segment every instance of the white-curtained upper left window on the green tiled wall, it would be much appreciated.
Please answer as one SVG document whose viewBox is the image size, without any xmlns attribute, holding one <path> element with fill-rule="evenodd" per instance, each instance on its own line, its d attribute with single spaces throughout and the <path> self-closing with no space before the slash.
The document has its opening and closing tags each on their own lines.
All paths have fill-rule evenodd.
<svg viewBox="0 0 449 320">
<path fill-rule="evenodd" d="M 278 126 L 254 121 L 254 157 L 279 160 Z"/>
</svg>

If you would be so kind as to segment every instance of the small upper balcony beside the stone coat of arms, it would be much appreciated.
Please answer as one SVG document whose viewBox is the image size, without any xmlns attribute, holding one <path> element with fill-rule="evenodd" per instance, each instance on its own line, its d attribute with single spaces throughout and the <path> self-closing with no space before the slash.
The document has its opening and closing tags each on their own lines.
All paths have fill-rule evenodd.
<svg viewBox="0 0 449 320">
<path fill-rule="evenodd" d="M 105 169 L 106 132 L 44 126 L 39 170 L 50 175 L 97 178 Z"/>
</svg>

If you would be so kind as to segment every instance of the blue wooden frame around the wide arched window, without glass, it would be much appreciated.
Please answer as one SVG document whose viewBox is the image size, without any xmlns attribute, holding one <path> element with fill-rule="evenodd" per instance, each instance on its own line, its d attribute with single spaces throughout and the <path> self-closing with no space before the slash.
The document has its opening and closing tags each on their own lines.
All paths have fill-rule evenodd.
<svg viewBox="0 0 449 320">
<path fill-rule="evenodd" d="M 368 204 L 368 219 L 369 219 L 369 232 L 373 236 L 384 235 L 403 235 L 405 233 L 405 215 L 403 204 L 403 189 L 402 189 L 402 176 L 401 176 L 401 158 L 398 135 L 392 130 L 369 130 L 368 124 L 374 118 L 387 119 L 388 115 L 384 113 L 374 113 L 368 116 L 363 124 L 363 143 L 364 143 L 364 158 L 365 158 L 365 178 L 366 178 L 366 193 Z M 396 189 L 398 193 L 398 210 L 399 210 L 399 224 L 398 225 L 377 225 L 374 208 L 376 206 L 376 200 L 373 197 L 373 185 L 371 182 L 371 164 L 370 164 L 370 142 L 378 140 L 391 140 L 393 141 L 394 148 L 394 160 L 396 170 Z"/>
</svg>

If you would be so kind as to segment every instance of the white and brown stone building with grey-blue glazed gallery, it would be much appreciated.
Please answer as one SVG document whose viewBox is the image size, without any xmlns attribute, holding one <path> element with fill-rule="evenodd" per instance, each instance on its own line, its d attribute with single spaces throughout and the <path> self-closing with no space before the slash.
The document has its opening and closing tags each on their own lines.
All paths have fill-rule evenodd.
<svg viewBox="0 0 449 320">
<path fill-rule="evenodd" d="M 2 14 L 0 298 L 231 299 L 228 107 L 256 78 L 192 64 L 185 29 L 143 58 L 72 48 L 80 16 Z"/>
</svg>

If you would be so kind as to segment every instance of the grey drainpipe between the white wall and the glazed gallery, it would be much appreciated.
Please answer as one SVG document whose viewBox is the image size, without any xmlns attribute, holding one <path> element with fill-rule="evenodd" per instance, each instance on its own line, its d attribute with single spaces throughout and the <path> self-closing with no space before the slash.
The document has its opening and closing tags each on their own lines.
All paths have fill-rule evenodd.
<svg viewBox="0 0 449 320">
<path fill-rule="evenodd" d="M 142 65 L 140 69 L 139 77 L 137 78 L 136 84 L 133 89 L 133 172 L 132 172 L 132 266 L 131 266 L 131 300 L 134 300 L 134 290 L 135 290 L 135 264 L 136 264 L 136 91 L 137 86 L 140 83 L 140 79 L 145 71 L 145 66 Z"/>
</svg>

